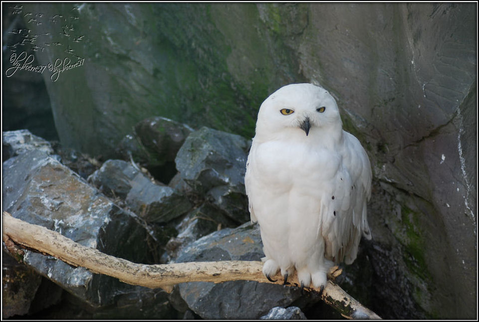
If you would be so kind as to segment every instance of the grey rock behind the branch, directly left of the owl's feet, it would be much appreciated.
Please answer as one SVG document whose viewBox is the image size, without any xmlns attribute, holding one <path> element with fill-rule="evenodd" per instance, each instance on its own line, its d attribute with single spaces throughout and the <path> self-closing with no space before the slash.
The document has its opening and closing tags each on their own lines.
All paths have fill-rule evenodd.
<svg viewBox="0 0 479 322">
<path fill-rule="evenodd" d="M 186 246 L 176 262 L 256 261 L 263 256 L 259 229 L 245 223 L 200 238 Z M 179 290 L 189 308 L 209 320 L 258 319 L 271 308 L 289 306 L 301 296 L 298 288 L 253 281 L 182 283 Z"/>
</svg>

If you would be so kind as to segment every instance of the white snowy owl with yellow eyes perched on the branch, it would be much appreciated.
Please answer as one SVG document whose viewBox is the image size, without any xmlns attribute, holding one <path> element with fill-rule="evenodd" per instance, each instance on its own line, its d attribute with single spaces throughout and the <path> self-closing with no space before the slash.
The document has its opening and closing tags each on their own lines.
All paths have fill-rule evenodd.
<svg viewBox="0 0 479 322">
<path fill-rule="evenodd" d="M 301 287 L 322 289 L 334 263 L 356 259 L 361 234 L 371 239 L 371 165 L 321 87 L 286 85 L 261 104 L 244 184 L 270 281 L 296 269 Z"/>
</svg>

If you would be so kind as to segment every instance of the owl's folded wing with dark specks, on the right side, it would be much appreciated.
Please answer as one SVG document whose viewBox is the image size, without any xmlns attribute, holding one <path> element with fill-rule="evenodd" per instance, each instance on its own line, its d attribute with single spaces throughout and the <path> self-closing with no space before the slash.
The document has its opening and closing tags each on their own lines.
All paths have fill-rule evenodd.
<svg viewBox="0 0 479 322">
<path fill-rule="evenodd" d="M 356 259 L 361 234 L 371 239 L 366 203 L 371 196 L 371 164 L 359 141 L 343 131 L 340 164 L 321 197 L 318 229 L 326 258 L 346 264 Z"/>
</svg>

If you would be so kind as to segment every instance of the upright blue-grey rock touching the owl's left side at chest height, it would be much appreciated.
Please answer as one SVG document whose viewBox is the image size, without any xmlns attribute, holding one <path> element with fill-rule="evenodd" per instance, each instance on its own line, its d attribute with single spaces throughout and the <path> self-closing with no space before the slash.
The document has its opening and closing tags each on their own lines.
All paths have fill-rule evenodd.
<svg viewBox="0 0 479 322">
<path fill-rule="evenodd" d="M 183 180 L 239 223 L 249 220 L 244 191 L 248 147 L 239 135 L 203 127 L 190 134 L 175 159 Z"/>
</svg>

